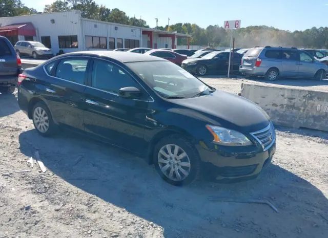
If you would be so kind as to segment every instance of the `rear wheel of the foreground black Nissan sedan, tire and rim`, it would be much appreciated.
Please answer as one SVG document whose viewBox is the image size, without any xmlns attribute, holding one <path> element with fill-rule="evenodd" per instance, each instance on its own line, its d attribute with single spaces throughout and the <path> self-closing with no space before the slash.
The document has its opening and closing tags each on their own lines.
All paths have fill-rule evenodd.
<svg viewBox="0 0 328 238">
<path fill-rule="evenodd" d="M 37 102 L 33 106 L 32 120 L 36 131 L 42 136 L 51 136 L 55 132 L 55 123 L 51 113 L 44 102 Z"/>
</svg>

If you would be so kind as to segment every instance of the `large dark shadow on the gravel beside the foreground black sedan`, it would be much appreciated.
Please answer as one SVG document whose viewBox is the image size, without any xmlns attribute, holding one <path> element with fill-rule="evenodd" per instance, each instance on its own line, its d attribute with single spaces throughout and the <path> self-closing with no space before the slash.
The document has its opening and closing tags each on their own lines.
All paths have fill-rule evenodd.
<svg viewBox="0 0 328 238">
<path fill-rule="evenodd" d="M 19 135 L 19 144 L 28 157 L 39 150 L 45 166 L 64 181 L 163 227 L 167 238 L 308 238 L 324 237 L 328 231 L 324 194 L 274 164 L 251 181 L 175 187 L 162 181 L 144 159 L 74 134 L 44 138 L 33 129 Z M 269 200 L 278 213 L 264 204 L 210 201 L 211 196 Z"/>
</svg>

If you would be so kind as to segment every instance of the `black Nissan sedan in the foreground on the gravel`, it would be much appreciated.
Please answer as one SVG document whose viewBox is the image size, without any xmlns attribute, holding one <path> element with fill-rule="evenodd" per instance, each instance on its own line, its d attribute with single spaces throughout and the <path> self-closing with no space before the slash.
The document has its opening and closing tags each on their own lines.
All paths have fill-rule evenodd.
<svg viewBox="0 0 328 238">
<path fill-rule="evenodd" d="M 275 153 L 274 127 L 259 106 L 158 57 L 68 53 L 26 69 L 18 84 L 20 109 L 40 135 L 58 126 L 83 132 L 145 157 L 174 185 L 201 171 L 254 178 Z"/>
</svg>

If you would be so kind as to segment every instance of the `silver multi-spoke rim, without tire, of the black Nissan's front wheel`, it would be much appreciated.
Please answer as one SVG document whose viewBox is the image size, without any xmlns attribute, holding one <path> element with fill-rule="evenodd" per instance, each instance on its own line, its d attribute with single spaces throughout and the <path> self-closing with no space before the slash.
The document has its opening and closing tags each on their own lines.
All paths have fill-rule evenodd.
<svg viewBox="0 0 328 238">
<path fill-rule="evenodd" d="M 167 144 L 160 148 L 158 165 L 163 175 L 173 181 L 183 181 L 190 174 L 190 159 L 185 150 L 175 144 Z"/>
</svg>

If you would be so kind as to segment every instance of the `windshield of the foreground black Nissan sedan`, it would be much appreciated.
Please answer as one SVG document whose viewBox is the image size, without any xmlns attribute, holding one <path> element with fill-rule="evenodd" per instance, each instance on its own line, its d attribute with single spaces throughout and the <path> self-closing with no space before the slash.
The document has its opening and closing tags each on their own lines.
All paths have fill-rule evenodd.
<svg viewBox="0 0 328 238">
<path fill-rule="evenodd" d="M 152 90 L 165 98 L 191 98 L 213 91 L 213 88 L 169 61 L 131 62 L 127 65 Z"/>
</svg>

